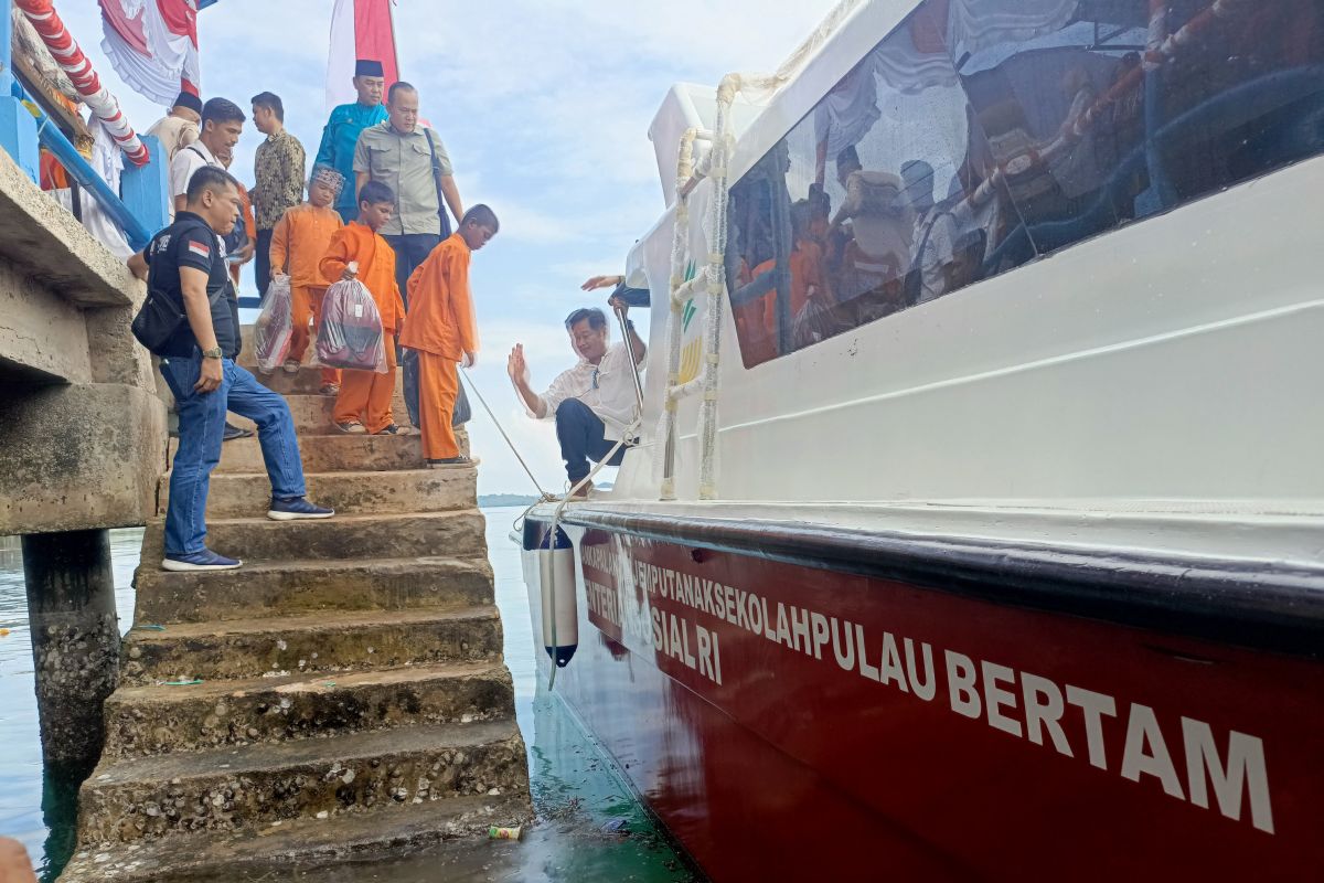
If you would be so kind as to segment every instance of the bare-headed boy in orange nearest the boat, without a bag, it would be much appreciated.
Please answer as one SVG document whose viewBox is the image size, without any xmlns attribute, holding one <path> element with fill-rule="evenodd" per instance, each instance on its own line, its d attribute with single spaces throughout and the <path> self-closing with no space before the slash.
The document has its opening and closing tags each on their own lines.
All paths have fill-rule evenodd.
<svg viewBox="0 0 1324 883">
<path fill-rule="evenodd" d="M 409 318 L 400 346 L 418 353 L 418 429 L 428 466 L 467 466 L 450 425 L 459 393 L 455 363 L 473 365 L 478 327 L 469 294 L 469 258 L 499 229 L 496 214 L 475 205 L 459 229 L 432 250 L 409 277 Z"/>
</svg>

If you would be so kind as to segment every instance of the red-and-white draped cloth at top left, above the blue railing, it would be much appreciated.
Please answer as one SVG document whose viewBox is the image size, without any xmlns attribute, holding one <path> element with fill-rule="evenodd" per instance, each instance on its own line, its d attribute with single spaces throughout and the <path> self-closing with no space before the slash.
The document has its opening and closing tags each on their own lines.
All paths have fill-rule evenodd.
<svg viewBox="0 0 1324 883">
<path fill-rule="evenodd" d="M 199 94 L 197 0 L 98 0 L 101 48 L 134 91 L 164 107 Z"/>
</svg>

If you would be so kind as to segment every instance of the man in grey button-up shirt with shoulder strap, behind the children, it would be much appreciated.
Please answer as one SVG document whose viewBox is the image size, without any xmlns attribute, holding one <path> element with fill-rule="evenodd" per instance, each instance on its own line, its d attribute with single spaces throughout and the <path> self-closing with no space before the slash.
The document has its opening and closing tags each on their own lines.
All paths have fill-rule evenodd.
<svg viewBox="0 0 1324 883">
<path fill-rule="evenodd" d="M 380 181 L 396 195 L 396 210 L 381 228 L 381 237 L 396 253 L 396 282 L 409 307 L 409 277 L 441 241 L 450 236 L 445 200 L 458 221 L 465 216 L 446 146 L 437 132 L 418 124 L 418 90 L 400 81 L 387 93 L 387 122 L 364 128 L 354 151 L 355 192 L 368 181 Z M 404 353 L 405 406 L 418 425 L 418 360 Z M 463 388 L 455 413 L 467 414 Z M 463 422 L 458 420 L 458 422 Z"/>
</svg>

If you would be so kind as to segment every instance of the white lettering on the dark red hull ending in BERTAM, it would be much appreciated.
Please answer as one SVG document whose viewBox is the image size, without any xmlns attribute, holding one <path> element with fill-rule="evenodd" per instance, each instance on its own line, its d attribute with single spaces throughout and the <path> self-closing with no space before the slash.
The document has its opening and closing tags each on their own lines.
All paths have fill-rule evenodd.
<svg viewBox="0 0 1324 883">
<path fill-rule="evenodd" d="M 592 560 L 588 549 L 592 548 Z M 602 547 L 585 547 L 585 561 L 616 573 Z M 1188 716 L 1160 716 L 1149 706 L 1058 683 L 1051 678 L 1018 671 L 990 659 L 972 658 L 952 649 L 941 653 L 935 667 L 935 647 L 924 641 L 876 630 L 863 622 L 839 620 L 808 608 L 772 601 L 755 592 L 722 585 L 636 560 L 637 585 L 650 596 L 685 605 L 700 613 L 784 646 L 814 661 L 837 663 L 843 673 L 896 690 L 922 702 L 932 702 L 945 680 L 952 712 L 1034 745 L 1051 747 L 1064 757 L 1120 774 L 1137 784 L 1152 782 L 1168 796 L 1202 809 L 1213 804 L 1231 819 L 1242 819 L 1250 808 L 1250 823 L 1274 833 L 1272 801 L 1264 765 L 1263 741 L 1229 731 L 1219 739 L 1207 723 Z M 585 580 L 589 609 L 621 622 L 617 593 Z M 722 654 L 715 630 L 669 610 L 651 608 L 651 639 L 663 658 L 722 684 Z M 825 649 L 831 649 L 828 655 Z M 1119 711 L 1124 708 L 1124 711 Z M 1106 725 L 1106 719 L 1117 720 Z M 1166 725 L 1166 731 L 1164 727 Z M 1181 741 L 1177 743 L 1180 728 Z M 1117 739 L 1117 733 L 1124 736 Z"/>
</svg>

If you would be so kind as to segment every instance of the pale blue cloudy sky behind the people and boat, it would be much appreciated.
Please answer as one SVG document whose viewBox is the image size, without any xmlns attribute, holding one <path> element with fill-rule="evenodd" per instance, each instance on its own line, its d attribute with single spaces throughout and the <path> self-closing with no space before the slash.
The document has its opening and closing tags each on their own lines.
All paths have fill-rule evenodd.
<svg viewBox="0 0 1324 883">
<path fill-rule="evenodd" d="M 286 127 L 316 152 L 326 122 L 332 0 L 220 0 L 199 15 L 203 97 L 248 111 L 270 90 Z M 575 364 L 564 318 L 604 306 L 589 275 L 624 270 L 625 256 L 665 210 L 647 130 L 675 82 L 711 83 L 731 70 L 769 71 L 835 0 L 399 0 L 401 78 L 445 142 L 465 205 L 487 203 L 500 234 L 474 254 L 470 281 L 482 349 L 470 379 L 539 483 L 564 488 L 551 422 L 527 417 L 506 376 L 524 344 L 536 389 Z M 93 0 L 56 8 L 130 122 L 146 131 L 163 109 L 132 93 L 101 50 Z M 245 127 L 232 172 L 253 181 L 262 135 Z M 669 172 L 674 176 L 674 169 Z M 254 294 L 252 278 L 245 278 Z M 646 328 L 642 310 L 632 318 Z M 659 348 L 661 351 L 661 348 Z M 474 401 L 469 424 L 481 494 L 534 485 Z M 405 418 L 404 414 L 397 418 Z"/>
</svg>

